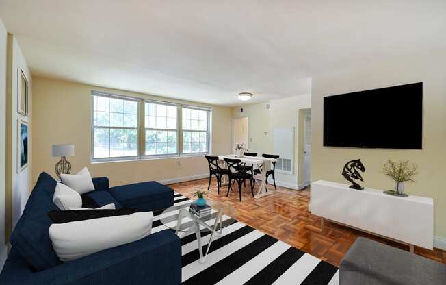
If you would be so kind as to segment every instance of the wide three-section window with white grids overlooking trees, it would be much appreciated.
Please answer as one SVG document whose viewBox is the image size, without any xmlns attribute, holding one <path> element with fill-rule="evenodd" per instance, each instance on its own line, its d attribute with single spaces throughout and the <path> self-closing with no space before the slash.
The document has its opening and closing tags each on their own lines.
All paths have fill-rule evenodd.
<svg viewBox="0 0 446 285">
<path fill-rule="evenodd" d="M 92 160 L 209 153 L 210 108 L 92 91 Z"/>
</svg>

